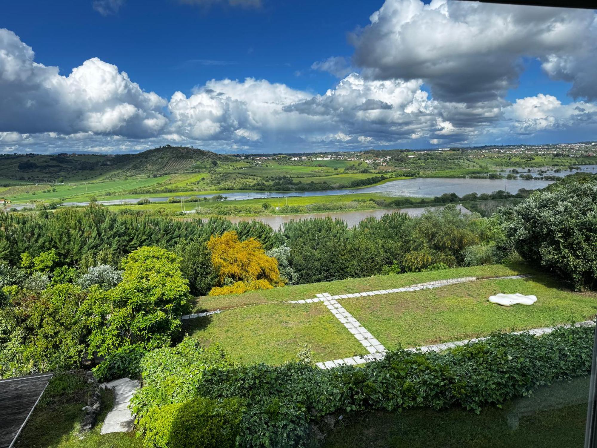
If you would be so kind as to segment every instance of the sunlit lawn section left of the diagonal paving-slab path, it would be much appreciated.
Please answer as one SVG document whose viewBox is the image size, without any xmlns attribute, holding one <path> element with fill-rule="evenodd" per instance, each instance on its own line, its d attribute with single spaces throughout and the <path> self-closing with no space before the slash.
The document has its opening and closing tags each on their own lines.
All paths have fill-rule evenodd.
<svg viewBox="0 0 597 448">
<path fill-rule="evenodd" d="M 185 330 L 206 345 L 218 343 L 242 363 L 282 364 L 295 360 L 300 344 L 309 344 L 313 360 L 365 354 L 323 303 L 237 308 L 186 321 Z"/>
</svg>

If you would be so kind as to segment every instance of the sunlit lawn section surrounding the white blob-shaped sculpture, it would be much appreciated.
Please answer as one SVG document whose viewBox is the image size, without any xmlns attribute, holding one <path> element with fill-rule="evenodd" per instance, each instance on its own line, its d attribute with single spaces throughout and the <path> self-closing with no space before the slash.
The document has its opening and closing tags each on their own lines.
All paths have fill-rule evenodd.
<svg viewBox="0 0 597 448">
<path fill-rule="evenodd" d="M 437 289 L 338 300 L 386 348 L 487 336 L 498 330 L 527 330 L 597 314 L 596 293 L 559 288 L 549 275 L 524 279 L 481 280 Z M 534 294 L 531 306 L 499 306 L 496 293 Z"/>
</svg>

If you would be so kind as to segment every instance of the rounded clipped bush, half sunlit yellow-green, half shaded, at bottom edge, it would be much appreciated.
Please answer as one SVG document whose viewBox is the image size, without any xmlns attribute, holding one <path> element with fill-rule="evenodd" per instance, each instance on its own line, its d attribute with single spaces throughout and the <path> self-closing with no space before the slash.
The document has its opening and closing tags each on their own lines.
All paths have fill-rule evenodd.
<svg viewBox="0 0 597 448">
<path fill-rule="evenodd" d="M 232 448 L 241 424 L 239 400 L 194 398 L 153 407 L 139 422 L 147 448 Z"/>
</svg>

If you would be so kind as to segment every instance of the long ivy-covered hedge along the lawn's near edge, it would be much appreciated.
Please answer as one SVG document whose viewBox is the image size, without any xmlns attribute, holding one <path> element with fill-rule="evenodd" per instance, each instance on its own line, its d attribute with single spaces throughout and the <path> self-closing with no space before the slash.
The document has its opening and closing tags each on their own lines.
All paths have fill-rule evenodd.
<svg viewBox="0 0 597 448">
<path fill-rule="evenodd" d="M 143 360 L 144 384 L 133 397 L 133 411 L 143 417 L 196 397 L 237 398 L 245 406 L 238 446 L 304 446 L 309 424 L 329 413 L 448 406 L 479 412 L 537 386 L 587 375 L 594 332 L 581 327 L 539 338 L 496 334 L 441 353 L 398 349 L 381 361 L 331 370 L 302 363 L 233 366 L 221 358 L 216 365 L 204 355 L 185 362 L 194 343 L 187 339 L 183 349 L 158 349 Z"/>
</svg>

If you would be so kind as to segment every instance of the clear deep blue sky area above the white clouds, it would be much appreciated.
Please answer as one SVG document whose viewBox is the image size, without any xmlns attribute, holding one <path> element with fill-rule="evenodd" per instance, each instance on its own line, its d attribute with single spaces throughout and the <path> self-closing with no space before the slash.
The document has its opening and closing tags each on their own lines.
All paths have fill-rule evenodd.
<svg viewBox="0 0 597 448">
<path fill-rule="evenodd" d="M 382 4 L 272 1 L 260 8 L 205 8 L 129 0 L 118 13 L 102 16 L 91 1 L 23 1 L 2 7 L 1 25 L 35 50 L 37 62 L 57 65 L 63 75 L 96 56 L 164 97 L 213 78 L 247 77 L 325 93 L 337 79 L 310 66 L 330 55 L 350 56 L 347 33 L 367 25 Z"/>
</svg>

